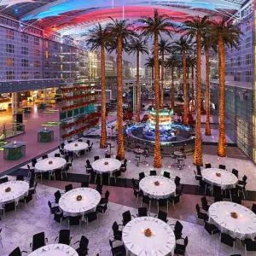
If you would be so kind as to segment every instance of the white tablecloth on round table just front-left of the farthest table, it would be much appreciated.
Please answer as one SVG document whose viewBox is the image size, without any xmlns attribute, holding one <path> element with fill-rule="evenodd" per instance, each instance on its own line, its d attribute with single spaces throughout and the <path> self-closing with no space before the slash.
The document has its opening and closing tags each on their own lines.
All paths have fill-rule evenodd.
<svg viewBox="0 0 256 256">
<path fill-rule="evenodd" d="M 52 161 L 52 164 L 49 162 Z M 44 160 L 38 161 L 35 166 L 36 172 L 53 172 L 66 165 L 67 161 L 61 157 L 49 157 Z"/>
</svg>

